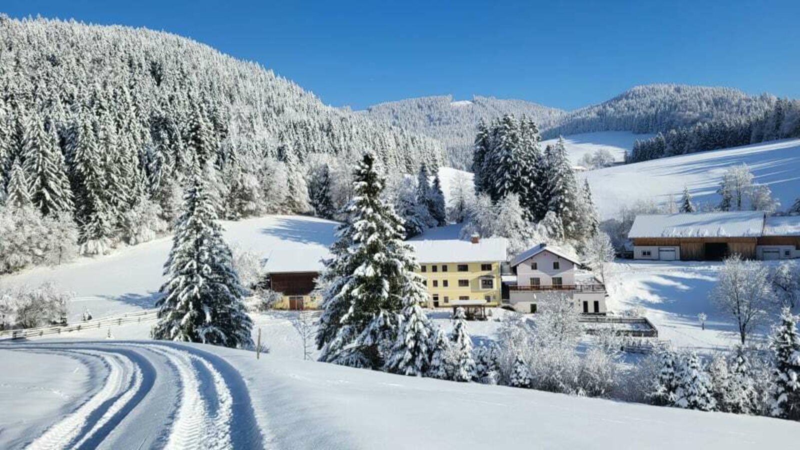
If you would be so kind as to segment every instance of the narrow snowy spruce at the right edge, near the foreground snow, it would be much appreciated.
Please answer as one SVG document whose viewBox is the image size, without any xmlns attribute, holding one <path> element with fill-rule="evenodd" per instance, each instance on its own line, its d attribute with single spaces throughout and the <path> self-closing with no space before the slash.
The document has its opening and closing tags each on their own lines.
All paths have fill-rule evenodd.
<svg viewBox="0 0 800 450">
<path fill-rule="evenodd" d="M 800 420 L 800 335 L 797 323 L 797 316 L 784 307 L 770 339 L 775 354 L 770 413 L 790 420 Z"/>
</svg>

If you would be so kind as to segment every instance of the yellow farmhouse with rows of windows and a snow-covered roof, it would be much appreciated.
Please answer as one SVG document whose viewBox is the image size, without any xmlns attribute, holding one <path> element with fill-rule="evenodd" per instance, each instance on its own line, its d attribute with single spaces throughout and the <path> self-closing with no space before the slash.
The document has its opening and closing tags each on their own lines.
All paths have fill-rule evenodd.
<svg viewBox="0 0 800 450">
<path fill-rule="evenodd" d="M 425 277 L 429 307 L 450 307 L 454 300 L 501 301 L 500 263 L 506 261 L 506 239 L 412 240 Z"/>
</svg>

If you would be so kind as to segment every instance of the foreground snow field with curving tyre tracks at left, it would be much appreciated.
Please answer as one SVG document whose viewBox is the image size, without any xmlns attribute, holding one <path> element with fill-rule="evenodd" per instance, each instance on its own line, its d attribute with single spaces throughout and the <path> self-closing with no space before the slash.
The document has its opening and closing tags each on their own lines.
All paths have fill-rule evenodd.
<svg viewBox="0 0 800 450">
<path fill-rule="evenodd" d="M 458 384 L 274 355 L 256 360 L 253 352 L 203 345 L 31 341 L 0 345 L 0 359 L 6 362 L 0 398 L 46 399 L 28 402 L 19 415 L 10 408 L 0 412 L 0 448 L 21 448 L 35 438 L 39 448 L 59 442 L 186 448 L 199 441 L 226 448 L 728 450 L 777 448 L 800 432 L 800 424 L 786 420 Z M 46 365 L 48 373 L 22 379 L 32 365 Z M 455 421 L 432 422 L 440 417 Z"/>
</svg>

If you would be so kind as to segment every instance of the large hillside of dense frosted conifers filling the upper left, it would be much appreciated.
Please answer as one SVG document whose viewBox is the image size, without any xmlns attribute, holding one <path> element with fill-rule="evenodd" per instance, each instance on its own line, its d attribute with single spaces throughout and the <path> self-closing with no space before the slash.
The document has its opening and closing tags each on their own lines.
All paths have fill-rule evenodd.
<svg viewBox="0 0 800 450">
<path fill-rule="evenodd" d="M 350 172 L 364 151 L 394 172 L 444 155 L 190 39 L 0 15 L 0 205 L 18 209 L 0 218 L 0 253 L 26 255 L 0 271 L 60 261 L 75 239 L 90 254 L 151 239 L 174 223 L 194 163 L 237 219 L 311 211 L 309 169 Z"/>
</svg>

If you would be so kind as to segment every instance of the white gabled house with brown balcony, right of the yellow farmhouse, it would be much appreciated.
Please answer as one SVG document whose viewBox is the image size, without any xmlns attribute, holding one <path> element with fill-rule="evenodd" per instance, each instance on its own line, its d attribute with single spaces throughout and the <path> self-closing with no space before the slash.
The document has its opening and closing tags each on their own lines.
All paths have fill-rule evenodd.
<svg viewBox="0 0 800 450">
<path fill-rule="evenodd" d="M 557 247 L 539 244 L 511 261 L 508 305 L 536 312 L 542 302 L 570 301 L 583 314 L 606 314 L 606 287 L 594 275 L 578 271 L 578 259 Z"/>
</svg>

